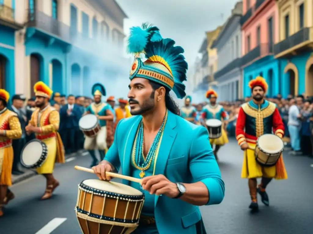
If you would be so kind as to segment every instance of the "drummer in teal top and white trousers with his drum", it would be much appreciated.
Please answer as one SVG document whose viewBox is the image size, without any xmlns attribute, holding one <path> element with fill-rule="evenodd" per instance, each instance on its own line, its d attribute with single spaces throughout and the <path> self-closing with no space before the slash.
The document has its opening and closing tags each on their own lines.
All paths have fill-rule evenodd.
<svg viewBox="0 0 313 234">
<path fill-rule="evenodd" d="M 98 163 L 95 150 L 99 150 L 100 161 L 105 156 L 107 140 L 110 140 L 111 134 L 113 134 L 113 129 L 107 132 L 106 121 L 114 119 L 111 106 L 101 102 L 102 95 L 106 95 L 104 86 L 99 83 L 94 84 L 92 94 L 94 102 L 87 107 L 84 116 L 79 121 L 79 127 L 85 134 L 84 149 L 89 151 L 93 159 L 91 167 Z"/>
</svg>

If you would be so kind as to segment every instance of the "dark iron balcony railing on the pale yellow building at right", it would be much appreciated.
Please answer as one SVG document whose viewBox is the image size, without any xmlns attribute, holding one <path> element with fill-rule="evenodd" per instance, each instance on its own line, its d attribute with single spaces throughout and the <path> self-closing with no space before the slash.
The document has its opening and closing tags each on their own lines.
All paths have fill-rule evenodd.
<svg viewBox="0 0 313 234">
<path fill-rule="evenodd" d="M 311 28 L 302 28 L 300 31 L 287 37 L 285 40 L 278 42 L 274 45 L 274 54 L 277 55 L 284 52 L 302 42 L 310 40 Z"/>
</svg>

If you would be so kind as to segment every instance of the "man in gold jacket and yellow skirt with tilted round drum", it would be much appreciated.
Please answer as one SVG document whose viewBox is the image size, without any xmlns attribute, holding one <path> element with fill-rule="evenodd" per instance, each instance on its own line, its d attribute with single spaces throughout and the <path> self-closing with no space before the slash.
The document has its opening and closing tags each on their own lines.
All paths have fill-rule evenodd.
<svg viewBox="0 0 313 234">
<path fill-rule="evenodd" d="M 59 182 L 53 176 L 54 163 L 65 163 L 64 146 L 58 133 L 60 115 L 50 106 L 49 100 L 53 91 L 44 82 L 39 81 L 34 85 L 36 96 L 35 104 L 38 107 L 26 126 L 27 134 L 35 133 L 38 141 L 30 141 L 22 151 L 24 165 L 36 168 L 38 174 L 42 174 L 47 180 L 47 187 L 42 200 L 52 196 Z M 31 150 L 33 150 L 32 153 Z"/>
</svg>

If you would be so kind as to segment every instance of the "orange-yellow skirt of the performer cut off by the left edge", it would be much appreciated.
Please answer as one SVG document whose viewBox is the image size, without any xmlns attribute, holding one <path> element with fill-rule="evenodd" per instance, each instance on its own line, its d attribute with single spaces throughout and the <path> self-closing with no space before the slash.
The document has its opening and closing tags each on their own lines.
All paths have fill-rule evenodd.
<svg viewBox="0 0 313 234">
<path fill-rule="evenodd" d="M 1 160 L 2 159 L 2 160 Z M 2 162 L 2 163 L 1 163 Z M 0 185 L 12 185 L 13 147 L 0 148 Z"/>
</svg>

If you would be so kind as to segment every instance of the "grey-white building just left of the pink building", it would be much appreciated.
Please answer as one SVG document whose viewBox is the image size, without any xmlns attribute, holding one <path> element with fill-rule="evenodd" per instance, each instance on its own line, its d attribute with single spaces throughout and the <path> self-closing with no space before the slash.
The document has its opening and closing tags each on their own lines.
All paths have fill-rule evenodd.
<svg viewBox="0 0 313 234">
<path fill-rule="evenodd" d="M 242 96 L 241 26 L 242 2 L 237 2 L 211 49 L 217 50 L 218 100 L 234 101 Z"/>
</svg>

